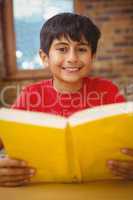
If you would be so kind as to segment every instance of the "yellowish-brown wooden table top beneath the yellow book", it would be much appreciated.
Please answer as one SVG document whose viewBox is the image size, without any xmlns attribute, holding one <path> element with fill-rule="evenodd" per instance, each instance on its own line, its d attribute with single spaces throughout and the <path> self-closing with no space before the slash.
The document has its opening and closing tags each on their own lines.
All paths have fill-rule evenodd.
<svg viewBox="0 0 133 200">
<path fill-rule="evenodd" d="M 133 200 L 133 181 L 0 187 L 1 200 Z"/>
</svg>

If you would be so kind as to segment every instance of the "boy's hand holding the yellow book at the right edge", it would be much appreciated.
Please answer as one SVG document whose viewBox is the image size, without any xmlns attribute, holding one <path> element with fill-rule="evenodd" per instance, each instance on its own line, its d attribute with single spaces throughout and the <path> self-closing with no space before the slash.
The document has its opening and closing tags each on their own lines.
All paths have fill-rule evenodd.
<svg viewBox="0 0 133 200">
<path fill-rule="evenodd" d="M 133 158 L 133 149 L 122 148 L 121 152 Z M 133 160 L 109 160 L 108 167 L 114 175 L 133 180 Z"/>
</svg>

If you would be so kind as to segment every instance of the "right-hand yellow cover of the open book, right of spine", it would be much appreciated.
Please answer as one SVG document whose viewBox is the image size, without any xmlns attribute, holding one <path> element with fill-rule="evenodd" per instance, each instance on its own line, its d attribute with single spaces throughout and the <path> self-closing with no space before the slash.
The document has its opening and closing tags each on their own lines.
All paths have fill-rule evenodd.
<svg viewBox="0 0 133 200">
<path fill-rule="evenodd" d="M 131 159 L 120 148 L 133 148 L 133 115 L 110 116 L 71 125 L 83 181 L 116 179 L 107 160 Z"/>
</svg>

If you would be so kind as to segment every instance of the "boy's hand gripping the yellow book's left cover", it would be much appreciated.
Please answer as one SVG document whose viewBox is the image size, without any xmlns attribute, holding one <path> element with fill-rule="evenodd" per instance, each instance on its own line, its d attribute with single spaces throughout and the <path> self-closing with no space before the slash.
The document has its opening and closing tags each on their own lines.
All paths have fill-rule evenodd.
<svg viewBox="0 0 133 200">
<path fill-rule="evenodd" d="M 14 158 L 0 158 L 0 186 L 20 186 L 30 183 L 35 169 L 25 161 Z"/>
</svg>

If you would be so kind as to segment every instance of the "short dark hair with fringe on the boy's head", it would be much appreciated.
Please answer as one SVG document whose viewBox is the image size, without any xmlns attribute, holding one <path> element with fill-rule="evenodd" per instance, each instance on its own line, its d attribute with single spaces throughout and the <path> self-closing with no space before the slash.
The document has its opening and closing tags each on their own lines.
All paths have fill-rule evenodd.
<svg viewBox="0 0 133 200">
<path fill-rule="evenodd" d="M 84 37 L 91 47 L 92 54 L 96 53 L 100 30 L 86 16 L 74 13 L 60 13 L 48 19 L 40 32 L 40 48 L 49 53 L 53 40 L 61 36 L 80 41 Z"/>
</svg>

